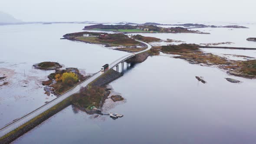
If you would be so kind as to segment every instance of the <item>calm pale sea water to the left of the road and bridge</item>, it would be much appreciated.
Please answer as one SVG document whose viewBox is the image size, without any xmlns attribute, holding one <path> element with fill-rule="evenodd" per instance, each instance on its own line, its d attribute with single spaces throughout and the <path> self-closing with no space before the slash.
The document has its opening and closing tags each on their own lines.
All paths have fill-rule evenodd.
<svg viewBox="0 0 256 144">
<path fill-rule="evenodd" d="M 54 71 L 33 69 L 38 62 L 59 62 L 86 73 L 98 72 L 105 63 L 125 56 L 102 45 L 60 39 L 66 33 L 82 31 L 83 24 L 29 24 L 0 26 L 0 74 L 3 68 L 15 74 L 0 88 L 0 127 L 33 111 L 55 96 L 44 94 L 41 82 Z M 25 77 L 24 77 L 25 71 Z M 9 71 L 7 71 L 9 72 Z M 24 81 L 26 80 L 26 82 Z M 27 86 L 27 87 L 23 87 Z"/>
</svg>

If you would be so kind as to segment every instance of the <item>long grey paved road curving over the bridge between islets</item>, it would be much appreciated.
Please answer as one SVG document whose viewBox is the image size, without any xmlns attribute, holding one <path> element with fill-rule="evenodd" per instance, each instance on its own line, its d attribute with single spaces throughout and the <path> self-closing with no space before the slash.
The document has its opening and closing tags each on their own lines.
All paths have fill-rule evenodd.
<svg viewBox="0 0 256 144">
<path fill-rule="evenodd" d="M 129 37 L 131 38 L 131 36 L 129 36 Z M 143 50 L 143 51 L 141 51 L 141 52 L 136 52 L 136 53 L 133 53 L 133 54 L 128 54 L 126 56 L 123 56 L 123 57 L 115 60 L 114 62 L 109 64 L 109 69 L 114 68 L 116 65 L 118 65 L 119 63 L 125 61 L 126 59 L 128 59 L 130 57 L 133 57 L 133 56 L 135 56 L 135 55 L 137 55 L 139 53 L 142 53 L 142 52 L 145 52 L 145 51 L 151 49 L 151 45 L 149 45 L 148 43 L 145 43 L 145 42 L 142 42 L 142 41 L 139 41 L 139 40 L 137 40 L 137 41 L 146 44 L 148 46 L 148 48 Z M 107 71 L 105 71 L 105 72 L 107 72 Z M 68 98 L 69 96 L 79 92 L 81 87 L 85 87 L 90 82 L 94 81 L 99 76 L 103 75 L 104 73 L 102 73 L 100 71 L 95 73 L 89 79 L 86 79 L 85 81 L 81 82 L 79 85 L 76 85 L 74 88 L 70 89 L 68 92 L 60 95 L 59 97 L 55 98 L 54 100 L 50 101 L 46 105 L 43 105 L 42 107 L 40 107 L 40 108 L 36 109 L 35 111 L 33 111 L 33 112 L 23 116 L 22 118 L 20 118 L 20 119 L 18 119 L 16 121 L 11 122 L 10 124 L 7 124 L 6 126 L 4 126 L 3 128 L 0 129 L 0 137 L 4 136 L 5 134 L 8 134 L 10 131 L 13 131 L 14 129 L 18 128 L 22 124 L 25 124 L 26 122 L 28 122 L 31 119 L 35 118 L 36 116 L 40 115 L 44 111 L 47 111 L 49 108 L 52 108 L 53 106 L 57 105 L 58 103 L 60 103 L 64 99 Z"/>
</svg>

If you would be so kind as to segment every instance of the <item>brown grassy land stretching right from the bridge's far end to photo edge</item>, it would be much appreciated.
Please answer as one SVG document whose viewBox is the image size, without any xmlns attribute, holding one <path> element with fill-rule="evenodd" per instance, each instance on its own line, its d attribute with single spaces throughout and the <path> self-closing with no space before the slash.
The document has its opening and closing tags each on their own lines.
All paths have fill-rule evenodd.
<svg viewBox="0 0 256 144">
<path fill-rule="evenodd" d="M 255 78 L 256 77 L 256 60 L 235 61 L 225 57 L 213 55 L 212 53 L 202 52 L 195 44 L 181 44 L 169 46 L 156 46 L 151 49 L 151 52 L 158 54 L 164 52 L 175 54 L 174 58 L 185 59 L 191 64 L 207 64 L 218 65 L 221 69 L 229 70 L 228 73 L 237 76 Z"/>
</svg>

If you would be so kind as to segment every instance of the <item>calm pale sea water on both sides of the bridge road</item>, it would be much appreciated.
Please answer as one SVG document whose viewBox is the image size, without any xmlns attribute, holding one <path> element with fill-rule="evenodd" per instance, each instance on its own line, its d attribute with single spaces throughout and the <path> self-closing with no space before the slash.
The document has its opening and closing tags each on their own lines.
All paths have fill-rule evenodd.
<svg viewBox="0 0 256 144">
<path fill-rule="evenodd" d="M 12 80 L 22 81 L 24 69 L 27 75 L 46 79 L 50 72 L 33 69 L 33 63 L 58 61 L 66 67 L 78 67 L 93 73 L 102 64 L 126 54 L 101 45 L 59 39 L 65 33 L 80 31 L 83 26 L 53 24 L 0 27 L 1 32 L 7 35 L 1 37 L 5 40 L 0 43 L 0 50 L 7 53 L 0 54 L 0 61 L 4 62 L 0 67 L 17 72 Z M 226 32 L 229 31 L 220 31 L 219 35 L 225 35 Z M 174 37 L 177 35 L 180 34 L 164 34 L 162 39 L 183 40 Z M 201 43 L 200 37 L 197 37 L 201 35 L 181 34 L 180 37 L 187 36 L 190 36 L 191 41 L 194 39 Z M 17 39 L 21 44 L 13 43 L 13 37 L 23 39 Z M 218 35 L 212 39 L 218 39 Z M 220 40 L 216 41 L 225 42 L 228 39 L 223 37 Z M 218 50 L 212 52 L 224 53 Z M 255 56 L 251 54 L 255 52 L 250 51 L 250 56 Z M 225 53 L 248 54 L 243 50 Z M 198 82 L 195 76 L 203 76 L 207 83 Z M 224 79 L 226 77 L 242 82 L 230 83 Z M 14 143 L 254 144 L 255 83 L 256 80 L 230 76 L 214 67 L 192 65 L 170 55 L 151 56 L 145 62 L 133 65 L 124 76 L 110 83 L 115 93 L 125 98 L 125 102 L 113 104 L 107 100 L 103 109 L 105 112 L 123 114 L 123 118 L 113 120 L 104 115 L 95 118 L 95 115 L 87 115 L 69 106 Z M 21 87 L 22 84 L 12 84 L 0 89 L 3 97 L 0 108 L 4 109 L 0 118 L 2 126 L 51 98 L 43 94 L 43 88 L 33 88 L 28 93 Z M 30 87 L 36 86 L 30 84 L 24 88 Z M 26 96 L 15 100 L 20 92 Z"/>
</svg>

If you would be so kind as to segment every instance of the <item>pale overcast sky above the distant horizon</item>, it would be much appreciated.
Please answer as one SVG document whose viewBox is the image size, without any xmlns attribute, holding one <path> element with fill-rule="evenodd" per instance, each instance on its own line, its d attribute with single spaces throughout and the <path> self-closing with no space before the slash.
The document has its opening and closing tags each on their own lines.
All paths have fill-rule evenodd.
<svg viewBox="0 0 256 144">
<path fill-rule="evenodd" d="M 256 22 L 256 0 L 0 0 L 23 21 Z"/>
</svg>

